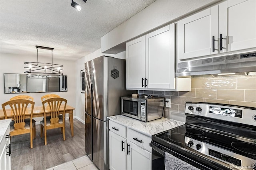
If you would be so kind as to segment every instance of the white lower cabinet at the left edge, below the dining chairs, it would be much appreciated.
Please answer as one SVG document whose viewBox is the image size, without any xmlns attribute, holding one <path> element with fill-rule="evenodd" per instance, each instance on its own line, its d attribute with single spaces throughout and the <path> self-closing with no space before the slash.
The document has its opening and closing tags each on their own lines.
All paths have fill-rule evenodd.
<svg viewBox="0 0 256 170">
<path fill-rule="evenodd" d="M 0 170 L 11 169 L 11 156 L 10 156 L 10 126 L 6 130 L 4 137 L 0 143 Z"/>
</svg>

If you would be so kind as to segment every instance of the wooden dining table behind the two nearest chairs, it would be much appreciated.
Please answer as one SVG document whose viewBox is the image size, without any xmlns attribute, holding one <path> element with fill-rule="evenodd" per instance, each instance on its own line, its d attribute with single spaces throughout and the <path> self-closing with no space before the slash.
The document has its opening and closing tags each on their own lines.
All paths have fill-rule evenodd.
<svg viewBox="0 0 256 170">
<path fill-rule="evenodd" d="M 60 106 L 60 114 L 63 114 L 63 111 L 64 111 L 63 109 L 64 109 L 64 105 L 61 105 Z M 70 130 L 71 130 L 71 136 L 72 137 L 74 136 L 74 121 L 73 121 L 73 110 L 74 109 L 75 109 L 74 107 L 66 105 L 65 113 L 68 113 L 69 123 L 70 123 Z M 25 118 L 30 118 L 31 108 L 28 107 L 26 112 L 27 113 L 25 113 Z M 11 109 L 6 109 L 6 113 L 7 113 L 7 119 L 14 119 Z M 49 115 L 50 115 L 50 109 L 49 109 L 49 107 L 46 107 L 46 116 L 49 116 Z M 43 106 L 35 106 L 34 110 L 33 110 L 32 117 L 44 117 Z M 63 114 L 63 117 L 65 118 L 65 114 Z M 5 119 L 4 111 L 2 109 L 0 110 L 0 120 L 1 119 Z"/>
</svg>

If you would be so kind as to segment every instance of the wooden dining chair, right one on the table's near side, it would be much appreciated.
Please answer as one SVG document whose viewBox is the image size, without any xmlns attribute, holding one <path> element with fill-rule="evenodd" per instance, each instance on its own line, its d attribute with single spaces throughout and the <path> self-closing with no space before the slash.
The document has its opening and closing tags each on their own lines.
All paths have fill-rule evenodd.
<svg viewBox="0 0 256 170">
<path fill-rule="evenodd" d="M 64 103 L 62 105 L 62 103 Z M 44 133 L 44 144 L 47 145 L 47 139 L 46 139 L 46 131 L 53 128 L 61 128 L 62 134 L 63 134 L 63 140 L 65 139 L 65 112 L 66 112 L 66 105 L 67 100 L 60 98 L 60 97 L 54 97 L 47 99 L 42 102 L 43 109 L 44 109 L 44 120 L 40 122 L 41 124 L 41 138 Z M 47 105 L 49 107 L 47 107 Z M 63 111 L 62 118 L 59 117 L 60 110 Z M 46 112 L 50 112 L 50 120 L 46 119 Z"/>
</svg>

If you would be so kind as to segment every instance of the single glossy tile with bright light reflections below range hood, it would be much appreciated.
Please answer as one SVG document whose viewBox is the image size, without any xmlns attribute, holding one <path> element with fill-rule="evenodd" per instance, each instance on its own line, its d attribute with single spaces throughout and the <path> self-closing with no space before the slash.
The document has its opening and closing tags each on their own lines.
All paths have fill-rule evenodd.
<svg viewBox="0 0 256 170">
<path fill-rule="evenodd" d="M 236 89 L 235 78 L 211 79 L 211 89 Z"/>
</svg>

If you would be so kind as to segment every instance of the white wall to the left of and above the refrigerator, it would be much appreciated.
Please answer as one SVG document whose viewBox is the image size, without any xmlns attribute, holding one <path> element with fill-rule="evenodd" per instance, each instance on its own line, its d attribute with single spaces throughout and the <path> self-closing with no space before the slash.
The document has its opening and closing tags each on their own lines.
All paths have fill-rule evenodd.
<svg viewBox="0 0 256 170">
<path fill-rule="evenodd" d="M 90 53 L 89 55 L 86 55 L 85 57 L 82 57 L 81 59 L 78 59 L 76 61 L 76 119 L 79 119 L 81 122 L 84 123 L 84 93 L 81 93 L 81 80 L 80 80 L 80 71 L 84 69 L 84 63 L 87 61 L 90 61 L 94 58 L 100 57 L 102 55 L 111 56 L 115 58 L 125 59 L 125 51 L 122 53 L 118 53 L 116 55 L 113 54 L 105 54 L 101 53 L 101 49 L 98 49 L 94 51 L 93 53 Z"/>
</svg>

